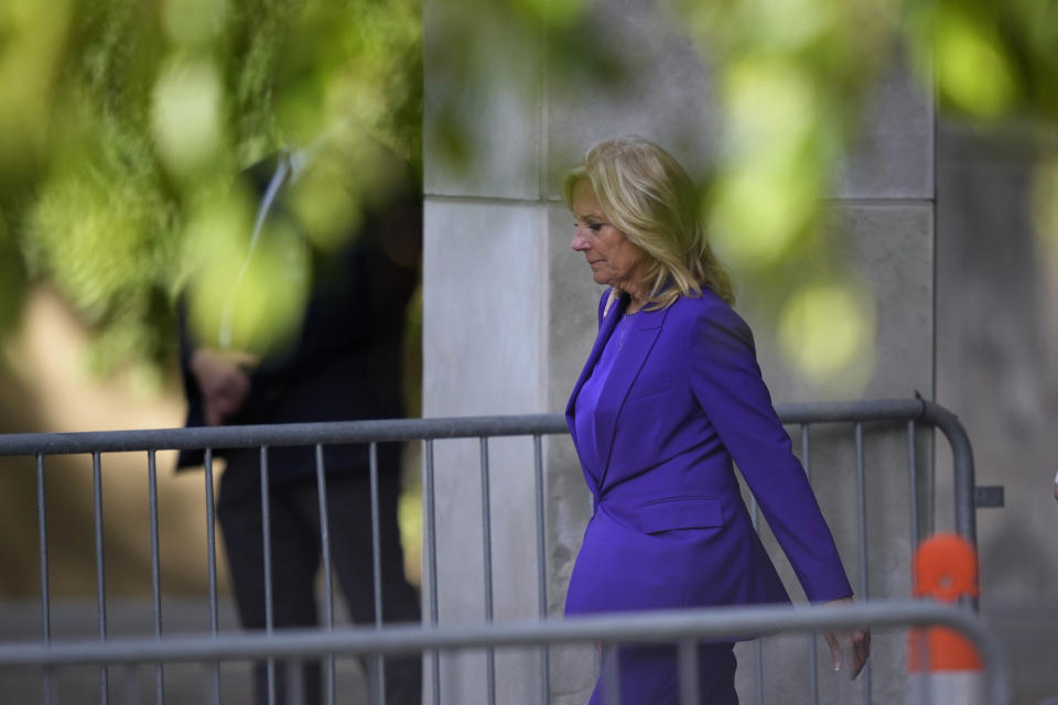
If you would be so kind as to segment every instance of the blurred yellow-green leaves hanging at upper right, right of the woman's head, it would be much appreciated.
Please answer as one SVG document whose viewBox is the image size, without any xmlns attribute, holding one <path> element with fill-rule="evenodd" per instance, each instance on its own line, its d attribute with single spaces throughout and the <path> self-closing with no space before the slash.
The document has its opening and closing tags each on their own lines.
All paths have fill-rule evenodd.
<svg viewBox="0 0 1058 705">
<path fill-rule="evenodd" d="M 824 218 L 871 91 L 909 65 L 941 115 L 981 129 L 1058 126 L 1055 0 L 676 0 L 714 67 L 722 154 L 703 217 L 722 259 L 774 306 L 784 352 L 819 393 L 870 381 L 876 307 Z M 1041 170 L 1041 174 L 1052 172 Z M 1041 204 L 1058 202 L 1043 176 Z M 1038 223 L 1046 218 L 1041 215 Z M 1043 227 L 1055 240 L 1054 224 Z"/>
</svg>

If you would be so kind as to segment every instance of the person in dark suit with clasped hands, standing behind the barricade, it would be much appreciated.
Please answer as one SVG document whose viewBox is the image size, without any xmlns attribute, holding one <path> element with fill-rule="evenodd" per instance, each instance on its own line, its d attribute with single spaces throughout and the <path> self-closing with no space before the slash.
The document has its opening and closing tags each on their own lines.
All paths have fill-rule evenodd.
<svg viewBox="0 0 1058 705">
<path fill-rule="evenodd" d="M 251 167 L 247 174 L 262 194 L 258 227 L 264 219 L 283 217 L 283 195 L 298 176 L 296 160 L 280 156 Z M 422 206 L 415 183 L 413 177 L 403 178 L 396 188 L 386 191 L 385 198 L 367 204 L 356 232 L 349 234 L 344 247 L 314 256 L 312 292 L 300 335 L 283 350 L 257 359 L 246 352 L 222 350 L 212 340 L 196 340 L 186 306 L 181 306 L 187 425 L 402 415 L 404 310 L 418 283 L 422 245 Z M 216 453 L 226 459 L 217 516 L 239 619 L 246 629 L 264 629 L 268 604 L 261 452 L 239 448 Z M 315 581 L 322 563 L 315 449 L 270 447 L 267 460 L 272 626 L 315 627 L 320 625 Z M 323 460 L 333 572 L 352 620 L 373 625 L 377 616 L 369 448 L 328 446 Z M 185 452 L 177 466 L 202 463 L 201 452 Z M 399 447 L 377 446 L 381 619 L 418 622 L 419 597 L 404 577 L 397 525 L 400 467 Z M 277 662 L 271 683 L 277 703 L 285 702 L 288 670 Z M 384 671 L 388 704 L 420 702 L 421 659 L 387 658 Z M 295 674 L 302 680 L 305 702 L 321 702 L 320 663 L 306 663 Z M 268 686 L 267 665 L 256 664 L 257 703 L 268 702 Z"/>
</svg>

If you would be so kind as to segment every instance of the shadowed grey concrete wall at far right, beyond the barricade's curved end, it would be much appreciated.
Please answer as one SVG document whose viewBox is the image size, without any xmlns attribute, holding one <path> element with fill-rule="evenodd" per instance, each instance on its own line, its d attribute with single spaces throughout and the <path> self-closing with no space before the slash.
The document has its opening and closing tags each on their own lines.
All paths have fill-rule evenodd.
<svg viewBox="0 0 1058 705">
<path fill-rule="evenodd" d="M 1058 142 L 949 121 L 937 151 L 937 398 L 973 440 L 978 484 L 1005 488 L 1004 508 L 978 512 L 981 611 L 1008 650 L 1011 702 L 1044 702 L 1058 648 L 1058 253 L 1030 204 Z M 939 520 L 952 525 L 950 511 Z"/>
</svg>

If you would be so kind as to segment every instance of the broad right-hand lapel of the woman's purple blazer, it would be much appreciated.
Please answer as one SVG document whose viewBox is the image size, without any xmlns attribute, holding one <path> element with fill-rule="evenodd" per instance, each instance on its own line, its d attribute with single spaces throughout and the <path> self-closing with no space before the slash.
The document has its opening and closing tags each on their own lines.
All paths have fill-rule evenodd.
<svg viewBox="0 0 1058 705">
<path fill-rule="evenodd" d="M 623 304 L 625 302 L 622 302 Z M 620 311 L 624 312 L 622 305 Z M 665 316 L 668 308 L 661 311 L 640 311 L 631 316 L 630 324 L 620 355 L 614 362 L 609 377 L 603 384 L 602 393 L 598 400 L 598 417 L 596 419 L 596 430 L 598 433 L 600 457 L 606 458 L 598 478 L 600 488 L 605 486 L 606 473 L 609 470 L 611 460 L 614 452 L 614 432 L 617 429 L 617 416 L 620 415 L 620 409 L 624 406 L 625 398 L 631 389 L 633 382 L 639 375 L 643 364 L 654 348 L 654 344 L 661 333 L 661 325 L 665 323 Z M 619 316 L 617 317 L 619 319 Z M 616 324 L 616 321 L 615 321 Z M 611 327 L 613 330 L 613 327 Z"/>
</svg>

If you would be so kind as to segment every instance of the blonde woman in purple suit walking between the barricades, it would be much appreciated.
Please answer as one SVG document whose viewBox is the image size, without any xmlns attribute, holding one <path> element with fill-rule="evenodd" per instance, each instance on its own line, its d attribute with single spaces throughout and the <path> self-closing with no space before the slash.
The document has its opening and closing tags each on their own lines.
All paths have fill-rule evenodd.
<svg viewBox="0 0 1058 705">
<path fill-rule="evenodd" d="M 742 501 L 737 464 L 813 603 L 850 600 L 827 522 L 771 405 L 753 337 L 665 150 L 602 142 L 565 178 L 573 249 L 609 286 L 566 420 L 594 495 L 566 615 L 788 603 Z M 842 657 L 827 634 L 834 669 Z M 732 643 L 700 648 L 703 703 L 737 703 Z M 859 674 L 870 632 L 853 634 Z M 622 649 L 624 705 L 674 703 L 671 648 Z M 602 703 L 604 662 L 591 703 Z"/>
</svg>

